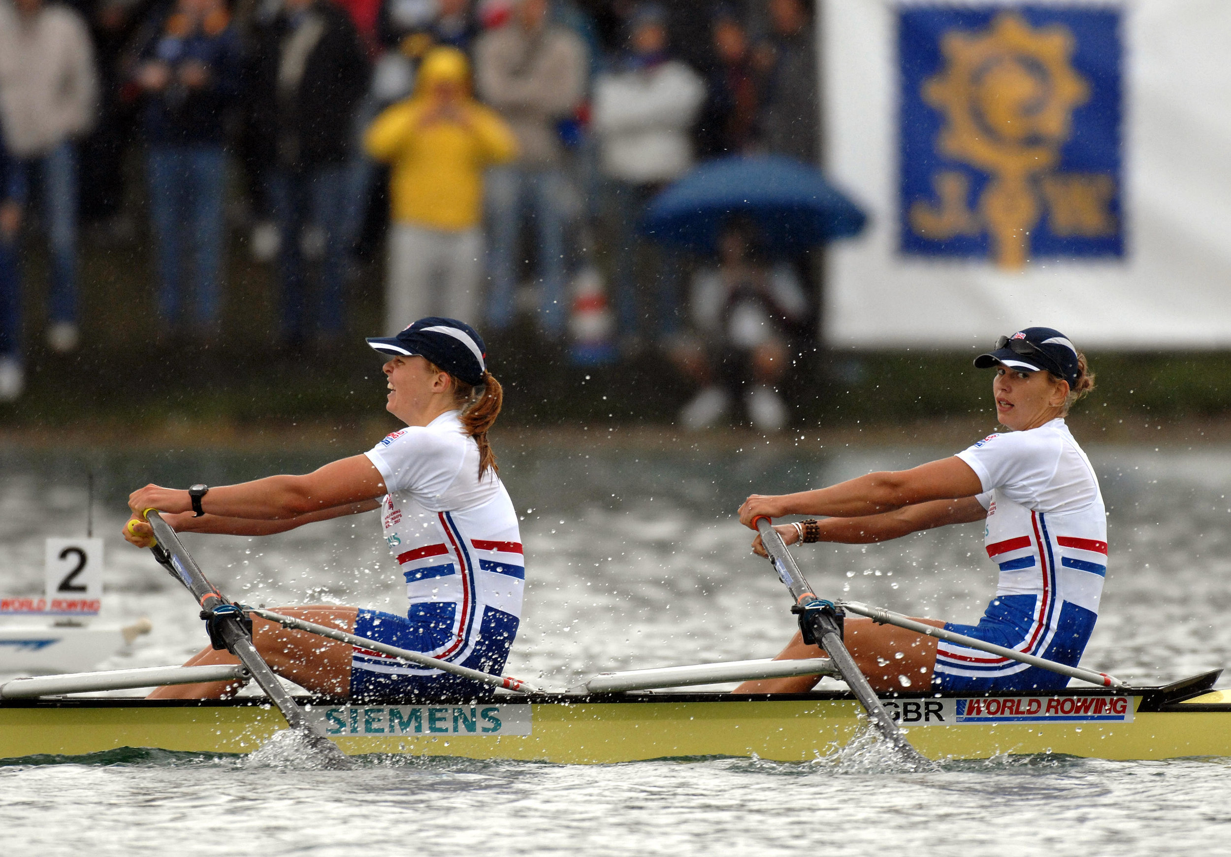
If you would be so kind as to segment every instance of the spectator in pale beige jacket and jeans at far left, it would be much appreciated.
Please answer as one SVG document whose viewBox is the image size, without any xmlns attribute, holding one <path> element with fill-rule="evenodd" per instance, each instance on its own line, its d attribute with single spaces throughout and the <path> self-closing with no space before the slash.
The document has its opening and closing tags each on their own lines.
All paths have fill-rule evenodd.
<svg viewBox="0 0 1231 857">
<path fill-rule="evenodd" d="M 62 352 L 78 344 L 75 140 L 94 124 L 97 94 L 94 47 L 78 12 L 0 0 L 0 118 L 22 187 L 42 186 L 52 256 L 47 337 Z"/>
</svg>

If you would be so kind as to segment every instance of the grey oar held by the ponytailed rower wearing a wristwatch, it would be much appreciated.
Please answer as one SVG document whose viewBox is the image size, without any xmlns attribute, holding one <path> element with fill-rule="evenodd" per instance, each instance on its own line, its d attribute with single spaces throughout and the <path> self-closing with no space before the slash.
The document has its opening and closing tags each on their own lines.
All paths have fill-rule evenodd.
<svg viewBox="0 0 1231 857">
<path fill-rule="evenodd" d="M 154 528 L 154 538 L 156 539 L 153 547 L 154 558 L 171 573 L 172 577 L 183 584 L 201 605 L 201 618 L 208 622 L 209 638 L 215 648 L 225 646 L 228 651 L 239 658 L 240 662 L 252 674 L 256 683 L 265 691 L 265 694 L 282 712 L 287 725 L 302 734 L 305 745 L 319 754 L 329 767 L 337 770 L 352 767 L 351 760 L 337 749 L 336 744 L 313 729 L 299 706 L 282 687 L 273 670 L 257 653 L 256 646 L 252 645 L 251 621 L 246 619 L 240 608 L 227 601 L 222 592 L 206 579 L 196 560 L 180 543 L 175 531 L 156 510 L 146 510 L 145 520 Z"/>
</svg>

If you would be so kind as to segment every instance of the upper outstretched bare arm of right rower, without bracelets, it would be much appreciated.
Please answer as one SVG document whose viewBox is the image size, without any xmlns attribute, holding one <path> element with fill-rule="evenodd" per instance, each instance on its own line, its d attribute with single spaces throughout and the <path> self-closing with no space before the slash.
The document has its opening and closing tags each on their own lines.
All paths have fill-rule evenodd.
<svg viewBox="0 0 1231 857">
<path fill-rule="evenodd" d="M 814 491 L 753 494 L 740 506 L 740 523 L 755 529 L 752 522 L 761 516 L 865 517 L 932 500 L 971 497 L 982 490 L 979 475 L 954 456 L 910 470 L 869 473 Z"/>
</svg>

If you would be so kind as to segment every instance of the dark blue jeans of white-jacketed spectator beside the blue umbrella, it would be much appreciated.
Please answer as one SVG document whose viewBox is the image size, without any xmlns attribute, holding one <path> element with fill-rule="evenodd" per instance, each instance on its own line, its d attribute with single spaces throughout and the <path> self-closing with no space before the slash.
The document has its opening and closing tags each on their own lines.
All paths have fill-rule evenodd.
<svg viewBox="0 0 1231 857">
<path fill-rule="evenodd" d="M 622 337 L 652 332 L 666 339 L 680 330 L 680 251 L 666 245 L 654 254 L 649 271 L 649 296 L 643 294 L 636 271 L 638 249 L 641 244 L 636 229 L 645 215 L 646 204 L 659 190 L 657 185 L 633 185 L 614 180 L 607 185 L 607 204 L 616 238 L 612 298 Z M 650 319 L 651 323 L 644 324 L 643 319 Z"/>
</svg>

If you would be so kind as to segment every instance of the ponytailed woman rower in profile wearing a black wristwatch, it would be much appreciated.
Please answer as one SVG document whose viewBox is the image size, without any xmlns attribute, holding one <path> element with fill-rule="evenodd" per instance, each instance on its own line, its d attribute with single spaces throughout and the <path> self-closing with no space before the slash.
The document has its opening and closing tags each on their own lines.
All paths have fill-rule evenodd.
<svg viewBox="0 0 1231 857">
<path fill-rule="evenodd" d="M 517 513 L 487 443 L 500 414 L 500 383 L 486 369 L 479 334 L 454 319 L 420 319 L 368 345 L 389 355 L 385 410 L 406 428 L 362 456 L 302 477 L 188 490 L 146 485 L 128 500 L 133 516 L 124 538 L 151 544 L 148 509 L 164 512 L 177 531 L 231 536 L 267 536 L 380 509 L 384 541 L 406 579 L 406 614 L 332 605 L 278 610 L 499 675 L 517 633 L 526 579 Z M 467 678 L 257 617 L 254 640 L 276 672 L 316 693 L 357 699 L 489 693 Z M 213 649 L 188 661 L 234 662 Z M 153 696 L 212 698 L 236 690 L 235 682 L 214 682 Z"/>
</svg>

